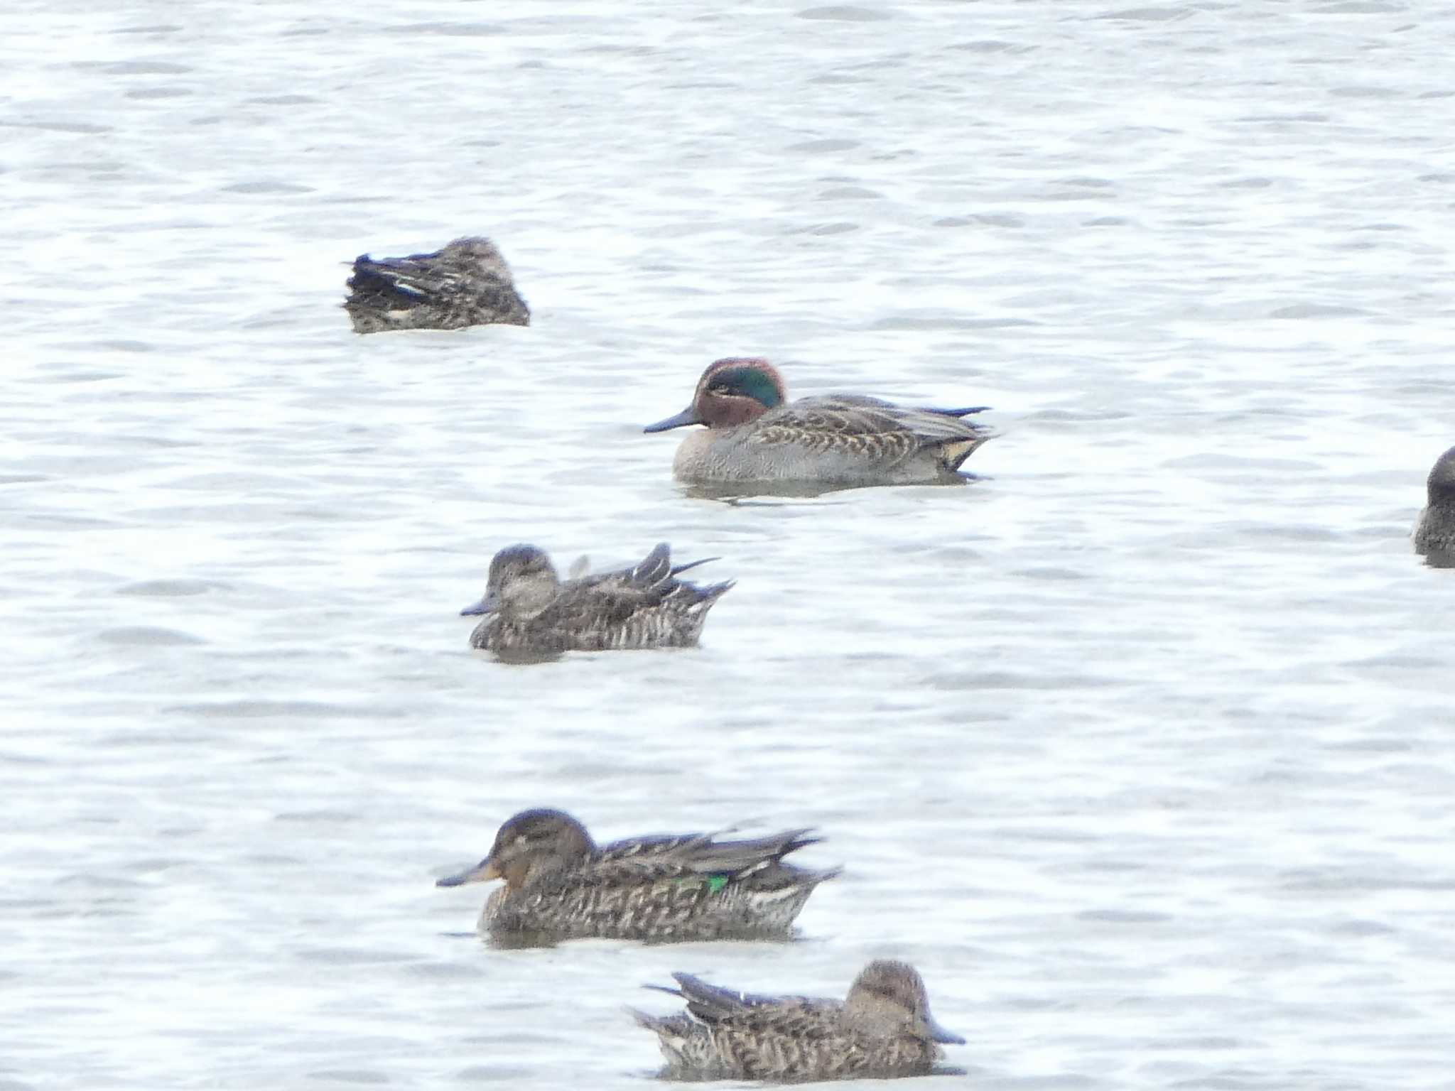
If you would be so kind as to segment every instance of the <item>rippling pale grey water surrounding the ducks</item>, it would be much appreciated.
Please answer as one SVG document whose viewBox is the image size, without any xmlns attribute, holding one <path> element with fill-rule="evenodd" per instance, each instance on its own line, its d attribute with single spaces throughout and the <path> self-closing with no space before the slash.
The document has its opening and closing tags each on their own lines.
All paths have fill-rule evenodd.
<svg viewBox="0 0 1455 1091">
<path fill-rule="evenodd" d="M 1374 0 L 9 0 L 0 1088 L 650 1087 L 639 985 L 879 956 L 976 1087 L 1455 1085 L 1452 52 Z M 349 332 L 343 262 L 467 233 L 534 326 Z M 738 353 L 1001 435 L 684 495 L 639 429 Z M 455 611 L 521 540 L 739 585 L 501 665 Z M 493 950 L 432 882 L 540 804 L 845 874 L 790 946 Z"/>
</svg>

